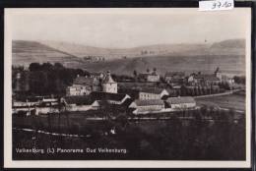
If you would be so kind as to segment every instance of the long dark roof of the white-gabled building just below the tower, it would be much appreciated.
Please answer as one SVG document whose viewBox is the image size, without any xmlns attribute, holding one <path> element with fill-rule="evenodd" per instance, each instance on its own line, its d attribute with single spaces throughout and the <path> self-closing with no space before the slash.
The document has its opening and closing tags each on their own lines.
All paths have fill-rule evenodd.
<svg viewBox="0 0 256 171">
<path fill-rule="evenodd" d="M 114 100 L 121 101 L 127 94 L 125 93 L 110 93 L 102 91 L 93 91 L 90 94 L 95 100 Z"/>
</svg>

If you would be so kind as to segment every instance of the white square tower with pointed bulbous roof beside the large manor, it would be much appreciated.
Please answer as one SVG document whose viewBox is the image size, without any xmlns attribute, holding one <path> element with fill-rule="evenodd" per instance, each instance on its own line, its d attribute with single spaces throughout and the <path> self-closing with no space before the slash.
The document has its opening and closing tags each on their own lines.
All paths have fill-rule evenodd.
<svg viewBox="0 0 256 171">
<path fill-rule="evenodd" d="M 117 93 L 117 83 L 113 81 L 111 74 L 107 71 L 107 74 L 102 81 L 103 92 Z"/>
</svg>

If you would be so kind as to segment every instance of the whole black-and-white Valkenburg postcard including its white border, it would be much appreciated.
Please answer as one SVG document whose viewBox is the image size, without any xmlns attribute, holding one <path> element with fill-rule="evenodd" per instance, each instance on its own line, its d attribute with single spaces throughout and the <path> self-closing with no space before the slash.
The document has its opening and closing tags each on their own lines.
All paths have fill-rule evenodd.
<svg viewBox="0 0 256 171">
<path fill-rule="evenodd" d="M 5 9 L 5 167 L 250 167 L 251 9 Z"/>
</svg>

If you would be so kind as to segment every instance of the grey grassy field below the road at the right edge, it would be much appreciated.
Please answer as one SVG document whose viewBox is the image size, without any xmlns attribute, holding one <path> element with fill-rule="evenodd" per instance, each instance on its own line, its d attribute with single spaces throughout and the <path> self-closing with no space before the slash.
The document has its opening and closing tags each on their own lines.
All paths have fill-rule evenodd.
<svg viewBox="0 0 256 171">
<path fill-rule="evenodd" d="M 196 98 L 196 102 L 199 105 L 216 106 L 227 109 L 232 108 L 234 110 L 245 111 L 245 95 L 241 93 Z"/>
</svg>

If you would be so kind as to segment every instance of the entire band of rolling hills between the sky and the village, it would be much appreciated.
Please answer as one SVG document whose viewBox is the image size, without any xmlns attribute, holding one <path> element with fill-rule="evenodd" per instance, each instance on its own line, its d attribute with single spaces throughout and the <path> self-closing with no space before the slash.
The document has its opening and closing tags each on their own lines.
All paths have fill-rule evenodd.
<svg viewBox="0 0 256 171">
<path fill-rule="evenodd" d="M 152 53 L 142 54 L 142 51 Z M 88 62 L 87 55 L 104 55 L 105 62 Z M 166 71 L 213 72 L 217 67 L 229 74 L 243 75 L 245 41 L 225 40 L 213 44 L 158 44 L 127 49 L 107 49 L 52 41 L 13 41 L 13 64 L 29 66 L 32 62 L 61 62 L 66 67 L 90 72 L 110 70 L 132 75 L 157 68 Z M 126 56 L 126 58 L 123 58 Z"/>
</svg>

